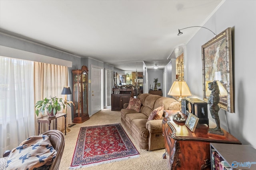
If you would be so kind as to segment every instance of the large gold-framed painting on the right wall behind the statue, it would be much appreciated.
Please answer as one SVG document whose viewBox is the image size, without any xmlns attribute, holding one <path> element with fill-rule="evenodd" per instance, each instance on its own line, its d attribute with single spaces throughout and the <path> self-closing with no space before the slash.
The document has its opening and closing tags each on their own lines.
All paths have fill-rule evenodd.
<svg viewBox="0 0 256 170">
<path fill-rule="evenodd" d="M 208 83 L 216 80 L 220 88 L 220 108 L 233 113 L 232 39 L 228 27 L 202 45 L 203 98 L 208 101 Z"/>
</svg>

